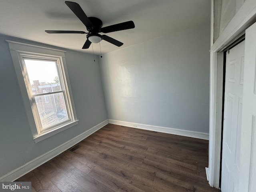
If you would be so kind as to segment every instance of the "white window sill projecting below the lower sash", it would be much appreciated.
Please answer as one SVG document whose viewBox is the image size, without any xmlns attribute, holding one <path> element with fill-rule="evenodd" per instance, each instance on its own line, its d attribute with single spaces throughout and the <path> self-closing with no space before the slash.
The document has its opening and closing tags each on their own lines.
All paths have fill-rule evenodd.
<svg viewBox="0 0 256 192">
<path fill-rule="evenodd" d="M 72 127 L 72 126 L 77 125 L 77 124 L 78 124 L 78 121 L 79 121 L 79 120 L 75 120 L 75 121 L 73 121 L 73 122 L 70 122 L 70 123 L 68 123 L 68 124 L 65 124 L 64 126 L 62 126 L 62 127 L 60 127 L 60 128 L 56 128 L 56 129 L 50 130 L 49 132 L 40 134 L 39 136 L 37 136 L 37 137 L 35 137 L 35 138 L 33 138 L 33 139 L 34 139 L 35 143 L 38 143 L 38 142 L 40 142 L 40 141 L 42 141 L 42 140 L 44 140 L 44 139 L 47 139 L 47 138 L 49 138 L 49 137 L 51 137 L 51 136 L 53 136 L 53 135 L 55 135 L 55 134 L 58 134 L 58 133 L 60 133 L 60 132 L 62 132 L 62 131 L 64 131 L 64 130 L 66 130 L 66 129 Z"/>
</svg>

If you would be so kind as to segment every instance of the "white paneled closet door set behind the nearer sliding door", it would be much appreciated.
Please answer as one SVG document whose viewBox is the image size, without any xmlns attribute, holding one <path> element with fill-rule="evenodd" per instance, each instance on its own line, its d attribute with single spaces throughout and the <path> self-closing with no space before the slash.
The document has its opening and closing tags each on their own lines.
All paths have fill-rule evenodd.
<svg viewBox="0 0 256 192">
<path fill-rule="evenodd" d="M 244 41 L 227 51 L 221 191 L 238 192 L 243 106 Z"/>
</svg>

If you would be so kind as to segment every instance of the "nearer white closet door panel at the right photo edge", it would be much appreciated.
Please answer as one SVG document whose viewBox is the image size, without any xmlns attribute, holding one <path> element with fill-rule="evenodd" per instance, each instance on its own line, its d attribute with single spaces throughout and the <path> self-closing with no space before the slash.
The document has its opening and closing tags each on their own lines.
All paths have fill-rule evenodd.
<svg viewBox="0 0 256 192">
<path fill-rule="evenodd" d="M 239 191 L 256 191 L 256 23 L 246 30 Z"/>
</svg>

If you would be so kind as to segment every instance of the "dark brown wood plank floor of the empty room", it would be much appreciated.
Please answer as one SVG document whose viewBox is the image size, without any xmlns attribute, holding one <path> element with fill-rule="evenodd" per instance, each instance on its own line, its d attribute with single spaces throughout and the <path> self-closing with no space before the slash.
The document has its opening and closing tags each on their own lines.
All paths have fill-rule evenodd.
<svg viewBox="0 0 256 192">
<path fill-rule="evenodd" d="M 76 146 L 17 181 L 32 192 L 220 192 L 206 180 L 207 140 L 108 124 Z"/>
</svg>

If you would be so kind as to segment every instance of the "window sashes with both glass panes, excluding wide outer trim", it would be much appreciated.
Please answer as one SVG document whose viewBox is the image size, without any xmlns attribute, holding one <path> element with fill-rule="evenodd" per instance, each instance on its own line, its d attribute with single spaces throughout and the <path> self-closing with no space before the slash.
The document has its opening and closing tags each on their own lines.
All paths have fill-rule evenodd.
<svg viewBox="0 0 256 192">
<path fill-rule="evenodd" d="M 71 120 L 59 58 L 18 53 L 28 96 L 40 132 Z M 61 79 L 61 81 L 59 81 Z M 62 83 L 60 83 L 62 82 Z M 49 102 L 50 100 L 50 102 Z"/>
</svg>

